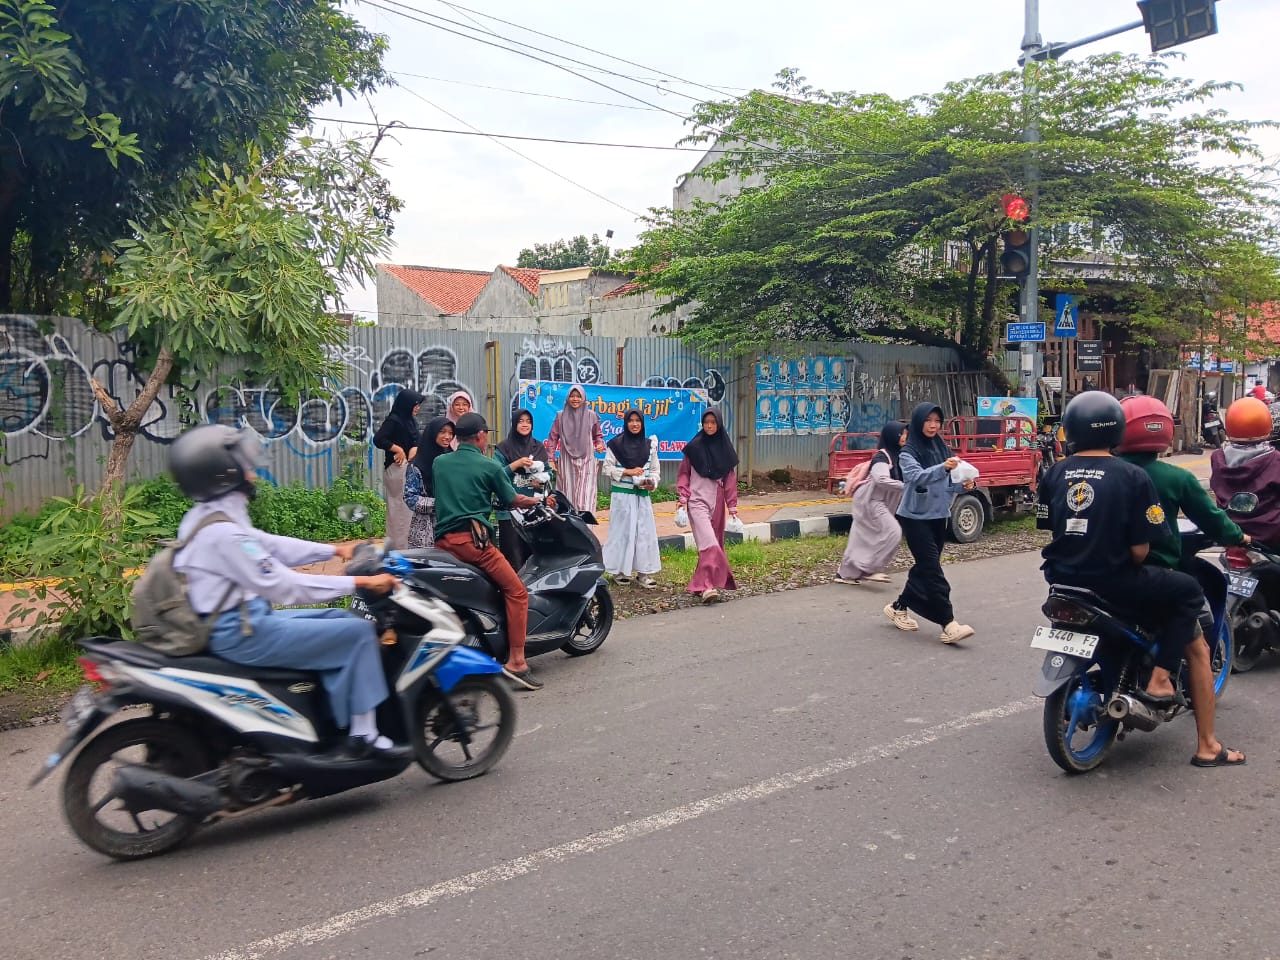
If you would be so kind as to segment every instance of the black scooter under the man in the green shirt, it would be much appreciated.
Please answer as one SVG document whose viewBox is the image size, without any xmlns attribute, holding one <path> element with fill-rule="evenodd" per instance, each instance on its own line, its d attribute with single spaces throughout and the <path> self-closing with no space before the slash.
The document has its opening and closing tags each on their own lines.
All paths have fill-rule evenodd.
<svg viewBox="0 0 1280 960">
<path fill-rule="evenodd" d="M 604 584 L 600 541 L 590 530 L 595 517 L 561 503 L 513 509 L 520 535 L 529 541 L 530 557 L 520 570 L 529 590 L 529 634 L 525 655 L 563 650 L 585 657 L 600 649 L 613 628 L 613 598 Z M 484 571 L 444 550 L 402 550 L 404 586 L 428 595 L 448 596 L 466 632 L 465 643 L 506 663 L 507 613 L 502 594 Z M 349 567 L 352 573 L 369 572 Z M 357 593 L 352 612 L 370 620 L 389 616 L 410 632 L 420 628 L 416 613 L 403 605 L 388 609 L 384 598 Z"/>
</svg>

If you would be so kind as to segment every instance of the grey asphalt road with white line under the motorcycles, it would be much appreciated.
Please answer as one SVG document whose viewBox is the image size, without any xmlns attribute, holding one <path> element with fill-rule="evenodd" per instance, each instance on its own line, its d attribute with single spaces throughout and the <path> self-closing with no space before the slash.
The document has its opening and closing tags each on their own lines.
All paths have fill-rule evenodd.
<svg viewBox="0 0 1280 960">
<path fill-rule="evenodd" d="M 490 776 L 408 772 L 210 829 L 154 861 L 82 849 L 55 732 L 0 735 L 8 960 L 1280 956 L 1280 663 L 1220 713 L 1057 772 L 1028 696 L 1029 554 L 951 568 L 964 649 L 887 591 L 823 586 L 620 623 L 543 658 Z"/>
</svg>

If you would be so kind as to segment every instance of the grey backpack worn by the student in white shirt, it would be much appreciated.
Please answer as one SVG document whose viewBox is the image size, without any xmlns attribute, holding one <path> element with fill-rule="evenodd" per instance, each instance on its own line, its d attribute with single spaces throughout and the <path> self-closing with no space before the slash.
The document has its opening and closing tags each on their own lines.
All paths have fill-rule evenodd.
<svg viewBox="0 0 1280 960">
<path fill-rule="evenodd" d="M 210 513 L 196 525 L 186 540 L 169 540 L 151 558 L 133 585 L 133 639 L 143 646 L 169 657 L 189 657 L 209 646 L 214 616 L 201 620 L 187 595 L 187 577 L 173 568 L 174 554 L 196 539 L 196 534 L 212 524 L 230 524 L 225 513 Z M 214 611 L 220 611 L 236 584 L 227 588 Z"/>
</svg>

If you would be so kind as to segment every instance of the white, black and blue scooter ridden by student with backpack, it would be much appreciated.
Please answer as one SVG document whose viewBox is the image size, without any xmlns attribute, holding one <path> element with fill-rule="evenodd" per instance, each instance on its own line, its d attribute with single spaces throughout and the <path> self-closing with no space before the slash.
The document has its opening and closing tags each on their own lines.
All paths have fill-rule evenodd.
<svg viewBox="0 0 1280 960">
<path fill-rule="evenodd" d="M 369 545 L 358 548 L 357 564 L 403 571 Z M 438 780 L 479 777 L 516 730 L 502 667 L 463 644 L 461 621 L 434 590 L 401 582 L 384 602 L 415 630 L 380 623 L 393 695 L 378 708 L 379 730 L 410 744 Z M 166 852 L 202 824 L 389 780 L 412 763 L 343 755 L 347 737 L 316 673 L 166 657 L 106 637 L 81 646 L 87 685 L 64 709 L 67 735 L 31 786 L 74 753 L 63 812 L 82 842 L 118 860 Z M 137 707 L 146 713 L 131 709 L 128 719 L 106 724 Z"/>
</svg>

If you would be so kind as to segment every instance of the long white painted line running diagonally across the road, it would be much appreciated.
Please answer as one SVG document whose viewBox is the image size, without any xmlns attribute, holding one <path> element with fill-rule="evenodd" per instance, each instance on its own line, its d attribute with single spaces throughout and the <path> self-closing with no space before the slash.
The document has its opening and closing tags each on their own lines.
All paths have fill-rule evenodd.
<svg viewBox="0 0 1280 960">
<path fill-rule="evenodd" d="M 1038 698 L 1028 696 L 1021 700 L 1014 700 L 1012 703 L 1007 703 L 1002 707 L 993 707 L 989 710 L 978 710 L 977 713 L 970 713 L 964 717 L 957 717 L 956 719 L 938 723 L 933 727 L 927 727 L 925 730 L 919 730 L 914 733 L 908 733 L 906 736 L 900 736 L 896 740 L 890 740 L 887 744 L 870 746 L 859 754 L 854 754 L 852 756 L 827 760 L 826 763 L 819 763 L 814 767 L 805 767 L 790 773 L 781 773 L 777 777 L 769 777 L 768 780 L 756 781 L 755 783 L 748 783 L 746 786 L 737 787 L 736 790 L 716 794 L 714 796 L 708 796 L 701 800 L 694 800 L 692 803 L 681 804 L 680 806 L 672 806 L 669 810 L 663 810 L 662 813 L 655 813 L 650 817 L 643 817 L 637 820 L 621 823 L 617 827 L 602 829 L 596 833 L 590 833 L 585 837 L 579 837 L 577 840 L 570 840 L 564 844 L 557 844 L 556 846 L 539 850 L 538 852 L 529 854 L 527 856 L 507 860 L 506 863 L 495 864 L 494 867 L 488 867 L 463 877 L 454 877 L 453 879 L 443 881 L 442 883 L 435 883 L 430 887 L 421 887 L 420 890 L 402 893 L 398 897 L 366 904 L 365 906 L 348 910 L 343 914 L 337 914 L 326 920 L 320 920 L 319 923 L 297 927 L 292 931 L 276 933 L 274 937 L 266 937 L 221 954 L 214 954 L 205 960 L 262 960 L 262 957 L 279 955 L 287 950 L 305 947 L 311 943 L 320 943 L 326 940 L 334 940 L 335 937 L 346 936 L 375 920 L 399 916 L 410 910 L 420 910 L 442 900 L 451 900 L 453 897 L 465 896 L 466 893 L 474 893 L 483 887 L 492 887 L 495 883 L 516 879 L 517 877 L 527 876 L 544 867 L 553 867 L 577 856 L 585 856 L 588 854 L 599 852 L 600 850 L 607 850 L 611 846 L 625 844 L 628 840 L 639 840 L 640 837 L 646 837 L 650 833 L 658 833 L 660 831 L 678 827 L 681 823 L 699 819 L 700 817 L 717 813 L 728 806 L 744 804 L 750 800 L 760 800 L 785 790 L 795 790 L 796 787 L 812 783 L 815 780 L 826 780 L 827 777 L 832 777 L 837 773 L 851 771 L 855 767 L 863 767 L 868 763 L 896 756 L 919 746 L 927 746 L 945 736 L 957 733 L 961 730 L 969 730 L 997 719 L 1004 719 L 1005 717 L 1012 717 L 1039 707 L 1042 703 L 1043 701 Z M 868 844 L 864 846 L 874 850 L 874 845 Z"/>
</svg>

